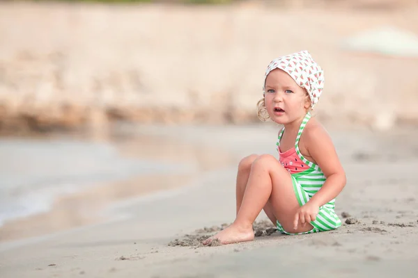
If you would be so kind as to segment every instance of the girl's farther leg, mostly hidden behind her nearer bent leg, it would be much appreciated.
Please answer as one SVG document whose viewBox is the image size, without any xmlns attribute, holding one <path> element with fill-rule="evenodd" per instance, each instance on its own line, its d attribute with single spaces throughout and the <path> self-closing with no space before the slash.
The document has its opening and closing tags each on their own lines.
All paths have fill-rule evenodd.
<svg viewBox="0 0 418 278">
<path fill-rule="evenodd" d="M 237 184 L 235 189 L 235 197 L 237 203 L 237 215 L 240 211 L 240 207 L 242 204 L 242 198 L 244 197 L 245 188 L 247 187 L 249 172 L 251 171 L 252 163 L 258 158 L 257 154 L 251 154 L 250 156 L 246 156 L 242 158 L 240 163 L 238 164 L 238 173 L 237 173 Z M 270 202 L 265 204 L 264 212 L 268 216 L 268 218 L 272 221 L 274 226 L 276 225 L 276 217 L 274 216 L 272 205 Z"/>
</svg>

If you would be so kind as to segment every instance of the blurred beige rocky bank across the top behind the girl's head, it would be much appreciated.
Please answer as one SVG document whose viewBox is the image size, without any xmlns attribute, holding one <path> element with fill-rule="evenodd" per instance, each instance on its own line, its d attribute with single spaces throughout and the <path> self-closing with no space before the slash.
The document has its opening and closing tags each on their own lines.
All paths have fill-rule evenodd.
<svg viewBox="0 0 418 278">
<path fill-rule="evenodd" d="M 268 63 L 302 49 L 325 70 L 320 120 L 418 126 L 417 14 L 417 0 L 1 1 L 0 133 L 258 122 Z"/>
</svg>

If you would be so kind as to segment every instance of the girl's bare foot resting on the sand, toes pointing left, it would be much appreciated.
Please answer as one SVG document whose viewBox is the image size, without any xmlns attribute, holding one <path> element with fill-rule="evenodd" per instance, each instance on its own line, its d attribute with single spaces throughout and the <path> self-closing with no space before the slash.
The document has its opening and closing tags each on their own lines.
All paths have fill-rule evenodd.
<svg viewBox="0 0 418 278">
<path fill-rule="evenodd" d="M 231 226 L 226 229 L 219 231 L 215 236 L 211 236 L 207 240 L 203 241 L 203 245 L 208 245 L 212 240 L 219 240 L 221 244 L 229 243 L 241 243 L 243 241 L 254 240 L 254 231 L 252 226 L 248 228 L 238 227 L 236 224 L 231 224 Z"/>
</svg>

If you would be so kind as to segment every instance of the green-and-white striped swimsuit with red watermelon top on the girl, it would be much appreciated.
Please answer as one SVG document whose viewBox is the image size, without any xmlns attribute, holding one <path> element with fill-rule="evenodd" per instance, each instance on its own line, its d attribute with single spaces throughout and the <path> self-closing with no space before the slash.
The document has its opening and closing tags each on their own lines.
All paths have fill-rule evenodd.
<svg viewBox="0 0 418 278">
<path fill-rule="evenodd" d="M 296 199 L 300 206 L 306 204 L 309 199 L 314 196 L 318 190 L 320 190 L 326 180 L 324 173 L 322 170 L 320 170 L 320 167 L 304 158 L 304 156 L 302 156 L 300 153 L 298 146 L 300 136 L 302 136 L 304 127 L 307 125 L 307 122 L 310 118 L 311 114 L 307 113 L 307 115 L 304 117 L 304 120 L 302 121 L 302 124 L 300 124 L 300 128 L 297 132 L 295 141 L 295 148 L 289 149 L 284 153 L 280 152 L 279 146 L 281 136 L 283 136 L 284 133 L 284 128 L 279 133 L 279 138 L 277 140 L 277 151 L 279 152 L 280 163 L 286 170 L 288 170 L 288 172 L 291 173 L 293 190 L 295 190 Z M 319 213 L 316 215 L 316 220 L 311 221 L 311 225 L 314 227 L 314 229 L 297 234 L 311 234 L 318 231 L 330 231 L 340 227 L 341 220 L 339 220 L 338 216 L 336 215 L 334 208 L 335 199 L 332 199 L 327 204 L 320 206 Z M 277 230 L 282 234 L 293 235 L 284 231 L 279 221 L 277 221 Z"/>
</svg>

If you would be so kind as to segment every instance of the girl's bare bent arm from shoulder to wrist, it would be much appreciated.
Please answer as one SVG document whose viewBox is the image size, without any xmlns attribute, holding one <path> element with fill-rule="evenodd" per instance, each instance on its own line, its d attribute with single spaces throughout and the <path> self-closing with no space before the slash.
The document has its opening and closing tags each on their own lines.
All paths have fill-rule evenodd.
<svg viewBox="0 0 418 278">
<path fill-rule="evenodd" d="M 346 186 L 346 172 L 325 129 L 320 125 L 314 125 L 309 126 L 309 130 L 306 131 L 308 132 L 305 134 L 305 142 L 309 155 L 314 158 L 327 178 L 322 188 L 309 199 L 309 202 L 323 206 L 339 195 Z"/>
</svg>

